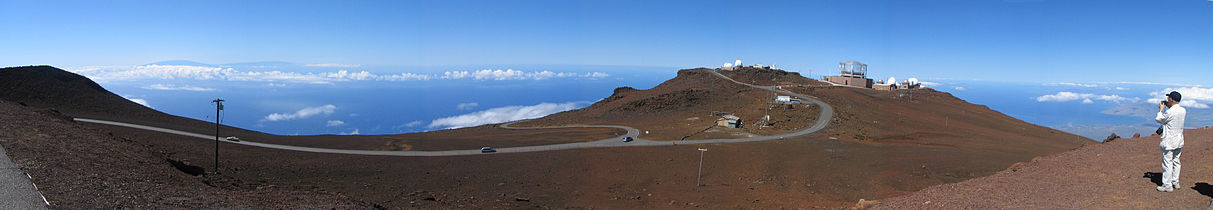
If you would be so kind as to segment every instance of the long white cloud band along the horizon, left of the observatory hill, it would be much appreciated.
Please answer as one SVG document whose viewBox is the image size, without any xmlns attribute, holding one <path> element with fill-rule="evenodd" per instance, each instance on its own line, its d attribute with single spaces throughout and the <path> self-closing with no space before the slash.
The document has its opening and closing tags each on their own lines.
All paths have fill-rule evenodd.
<svg viewBox="0 0 1213 210">
<path fill-rule="evenodd" d="M 366 70 L 349 72 L 320 72 L 320 73 L 295 73 L 295 72 L 244 72 L 229 67 L 198 67 L 198 66 L 101 66 L 68 68 L 69 72 L 87 76 L 98 83 L 130 81 L 142 79 L 192 79 L 192 80 L 228 80 L 228 81 L 275 81 L 275 83 L 304 83 L 304 84 L 332 84 L 340 81 L 409 81 L 432 79 L 474 79 L 474 80 L 545 80 L 552 78 L 585 78 L 599 79 L 610 74 L 592 73 L 556 73 L 549 70 L 523 72 L 514 69 L 506 70 L 475 70 L 475 72 L 445 72 L 443 75 L 398 73 L 375 74 Z M 274 85 L 270 85 L 274 86 Z"/>
</svg>

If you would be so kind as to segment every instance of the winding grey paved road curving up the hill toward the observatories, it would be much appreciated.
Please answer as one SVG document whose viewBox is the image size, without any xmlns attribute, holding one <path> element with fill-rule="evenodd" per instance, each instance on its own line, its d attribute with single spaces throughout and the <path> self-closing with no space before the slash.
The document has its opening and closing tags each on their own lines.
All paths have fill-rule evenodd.
<svg viewBox="0 0 1213 210">
<path fill-rule="evenodd" d="M 757 137 L 747 137 L 747 138 L 717 138 L 717 140 L 679 141 L 679 142 L 677 142 L 677 144 L 757 142 L 757 141 L 780 140 L 780 138 L 792 137 L 792 136 L 802 136 L 802 135 L 813 134 L 813 132 L 816 132 L 816 131 L 820 131 L 820 130 L 825 129 L 826 125 L 830 123 L 830 118 L 833 117 L 833 107 L 830 107 L 830 104 L 826 104 L 825 102 L 821 102 L 821 101 L 816 100 L 816 97 L 810 97 L 810 96 L 804 96 L 804 95 L 799 95 L 799 93 L 795 93 L 795 92 L 778 90 L 774 86 L 757 86 L 757 85 L 745 84 L 745 83 L 740 83 L 740 81 L 729 79 L 728 76 L 724 76 L 724 75 L 722 75 L 721 73 L 717 73 L 717 72 L 711 72 L 711 73 L 713 75 L 716 75 L 716 76 L 724 78 L 724 79 L 727 79 L 729 81 L 733 81 L 733 83 L 736 83 L 736 84 L 751 86 L 751 87 L 754 87 L 754 89 L 762 89 L 762 90 L 767 90 L 767 91 L 779 92 L 779 93 L 784 93 L 784 95 L 788 95 L 788 96 L 799 97 L 801 100 L 803 100 L 805 102 L 814 103 L 814 104 L 818 104 L 819 107 L 821 107 L 821 114 L 818 117 L 818 121 L 814 123 L 813 126 L 805 127 L 804 130 L 799 130 L 799 131 L 796 131 L 796 132 L 781 134 L 781 135 L 774 135 L 774 136 L 757 136 Z M 107 121 L 107 120 L 96 120 L 96 119 L 82 119 L 82 118 L 76 118 L 75 120 L 76 121 L 84 121 L 84 123 L 96 123 L 96 124 L 126 126 L 126 127 L 133 127 L 133 129 L 143 129 L 143 130 L 150 130 L 150 131 L 160 131 L 160 132 L 176 134 L 176 135 L 183 135 L 183 136 L 192 136 L 192 137 L 198 137 L 198 138 L 205 138 L 205 140 L 215 141 L 215 136 L 201 135 L 201 134 L 193 134 L 193 132 L 186 132 L 186 131 L 178 131 L 178 130 L 170 130 L 170 129 L 161 129 L 161 127 L 153 127 L 153 126 L 146 126 L 146 125 L 136 125 L 136 124 L 127 124 L 127 123 L 119 123 L 119 121 Z M 518 121 L 514 121 L 514 123 L 518 123 Z M 672 144 L 671 141 L 651 141 L 651 140 L 639 138 L 638 137 L 639 134 L 640 134 L 639 130 L 637 130 L 634 127 L 630 127 L 630 126 L 622 126 L 622 125 L 580 125 L 580 126 L 552 126 L 552 127 L 514 127 L 514 126 L 511 126 L 514 123 L 503 124 L 503 125 L 501 125 L 501 127 L 503 127 L 503 129 L 611 127 L 611 129 L 627 130 L 627 134 L 623 135 L 623 136 L 632 136 L 632 137 L 634 137 L 634 141 L 632 141 L 632 142 L 623 142 L 622 141 L 623 136 L 619 136 L 619 137 L 611 137 L 611 138 L 598 140 L 598 141 L 592 141 L 592 142 L 558 143 L 558 144 L 546 144 L 546 146 L 528 146 L 528 147 L 497 148 L 497 153 L 523 153 L 523 152 L 562 151 L 562 149 L 599 148 L 599 147 L 644 147 L 644 146 L 670 146 L 670 144 Z M 354 149 L 329 149 L 329 148 L 313 148 L 313 147 L 269 144 L 269 143 L 250 142 L 250 141 L 246 141 L 246 140 L 245 141 L 240 141 L 240 142 L 230 142 L 230 141 L 223 141 L 223 142 L 237 143 L 237 144 L 246 144 L 246 146 L 254 146 L 254 147 L 275 148 L 275 149 L 287 149 L 287 151 L 300 151 L 300 152 L 315 152 L 315 153 L 334 153 L 334 154 L 397 155 L 397 157 L 449 157 L 449 155 L 491 154 L 491 153 L 480 153 L 479 149 L 465 149 L 465 151 L 354 151 Z"/>
</svg>

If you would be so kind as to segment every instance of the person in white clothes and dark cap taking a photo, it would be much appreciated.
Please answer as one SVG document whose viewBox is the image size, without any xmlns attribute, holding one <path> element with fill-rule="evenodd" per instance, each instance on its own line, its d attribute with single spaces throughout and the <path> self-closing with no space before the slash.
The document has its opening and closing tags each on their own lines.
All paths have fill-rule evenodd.
<svg viewBox="0 0 1213 210">
<path fill-rule="evenodd" d="M 1181 96 L 1177 91 L 1167 93 L 1167 101 L 1158 103 L 1158 114 L 1155 121 L 1162 124 L 1162 186 L 1160 192 L 1172 192 L 1179 187 L 1179 154 L 1184 147 L 1184 117 L 1188 109 L 1179 106 Z"/>
</svg>

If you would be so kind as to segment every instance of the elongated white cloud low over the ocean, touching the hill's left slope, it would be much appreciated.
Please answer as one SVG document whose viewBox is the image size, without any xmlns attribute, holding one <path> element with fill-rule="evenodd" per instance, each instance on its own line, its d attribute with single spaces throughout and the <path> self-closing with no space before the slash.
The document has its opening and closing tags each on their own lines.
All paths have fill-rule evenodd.
<svg viewBox="0 0 1213 210">
<path fill-rule="evenodd" d="M 429 125 L 426 127 L 457 129 L 457 127 L 477 126 L 484 124 L 534 119 L 559 112 L 573 110 L 580 106 L 588 103 L 590 102 L 568 102 L 568 103 L 540 103 L 535 106 L 499 107 L 488 110 L 468 113 L 463 115 L 435 119 L 431 121 Z"/>
</svg>

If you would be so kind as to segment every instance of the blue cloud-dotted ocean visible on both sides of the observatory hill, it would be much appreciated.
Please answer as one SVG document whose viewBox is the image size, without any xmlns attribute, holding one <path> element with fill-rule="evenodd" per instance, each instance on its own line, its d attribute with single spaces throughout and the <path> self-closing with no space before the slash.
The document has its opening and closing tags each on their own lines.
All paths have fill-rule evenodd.
<svg viewBox="0 0 1213 210">
<path fill-rule="evenodd" d="M 461 69 L 461 70 L 460 70 Z M 154 63 L 69 68 L 169 114 L 275 135 L 388 135 L 474 126 L 582 108 L 620 86 L 651 89 L 679 68 L 615 66 L 303 67 Z M 1162 91 L 1191 95 L 1188 127 L 1213 124 L 1213 89 L 1150 83 L 923 79 L 929 87 L 1092 140 L 1149 135 Z M 1190 93 L 1186 93 L 1190 92 Z"/>
</svg>

